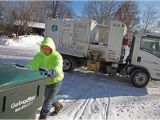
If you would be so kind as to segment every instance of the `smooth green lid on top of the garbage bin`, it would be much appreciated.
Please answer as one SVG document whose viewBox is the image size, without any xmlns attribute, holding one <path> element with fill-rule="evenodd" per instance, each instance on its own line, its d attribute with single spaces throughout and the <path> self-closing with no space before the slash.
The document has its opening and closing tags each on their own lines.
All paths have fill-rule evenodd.
<svg viewBox="0 0 160 120">
<path fill-rule="evenodd" d="M 2 89 L 25 84 L 35 80 L 45 79 L 40 73 L 29 69 L 16 67 L 12 63 L 0 63 L 0 91 Z"/>
</svg>

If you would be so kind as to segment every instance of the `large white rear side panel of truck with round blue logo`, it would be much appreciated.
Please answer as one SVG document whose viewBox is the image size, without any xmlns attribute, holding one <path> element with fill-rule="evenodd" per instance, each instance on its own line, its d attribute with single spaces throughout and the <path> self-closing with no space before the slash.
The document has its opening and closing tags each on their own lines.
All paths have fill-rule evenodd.
<svg viewBox="0 0 160 120">
<path fill-rule="evenodd" d="M 52 29 L 54 26 L 57 26 L 57 31 Z M 48 20 L 46 22 L 46 35 L 53 38 L 60 53 L 86 57 L 90 21 Z"/>
</svg>

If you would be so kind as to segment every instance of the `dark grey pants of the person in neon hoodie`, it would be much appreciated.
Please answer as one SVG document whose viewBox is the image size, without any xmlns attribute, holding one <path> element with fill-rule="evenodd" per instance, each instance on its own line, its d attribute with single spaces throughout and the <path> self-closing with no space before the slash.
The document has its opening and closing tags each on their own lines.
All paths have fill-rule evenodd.
<svg viewBox="0 0 160 120">
<path fill-rule="evenodd" d="M 49 114 L 50 109 L 52 108 L 52 103 L 55 103 L 54 98 L 58 94 L 61 84 L 62 81 L 55 84 L 46 85 L 40 116 L 47 116 Z"/>
</svg>

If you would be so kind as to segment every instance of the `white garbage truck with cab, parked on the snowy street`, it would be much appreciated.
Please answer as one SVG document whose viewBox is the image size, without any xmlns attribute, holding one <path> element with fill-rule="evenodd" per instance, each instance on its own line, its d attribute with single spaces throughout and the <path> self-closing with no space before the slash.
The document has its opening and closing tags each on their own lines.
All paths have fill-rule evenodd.
<svg viewBox="0 0 160 120">
<path fill-rule="evenodd" d="M 64 71 L 86 66 L 105 74 L 123 73 L 136 87 L 160 79 L 160 36 L 133 35 L 129 48 L 123 44 L 126 35 L 121 21 L 101 25 L 93 20 L 47 19 L 45 23 L 45 36 L 53 38 L 62 54 Z"/>
</svg>

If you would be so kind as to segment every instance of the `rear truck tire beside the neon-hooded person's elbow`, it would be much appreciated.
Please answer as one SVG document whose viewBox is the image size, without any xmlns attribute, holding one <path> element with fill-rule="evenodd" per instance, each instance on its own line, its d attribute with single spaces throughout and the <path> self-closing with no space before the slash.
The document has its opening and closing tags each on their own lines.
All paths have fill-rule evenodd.
<svg viewBox="0 0 160 120">
<path fill-rule="evenodd" d="M 63 71 L 71 72 L 76 67 L 76 60 L 69 56 L 63 56 Z"/>
</svg>

